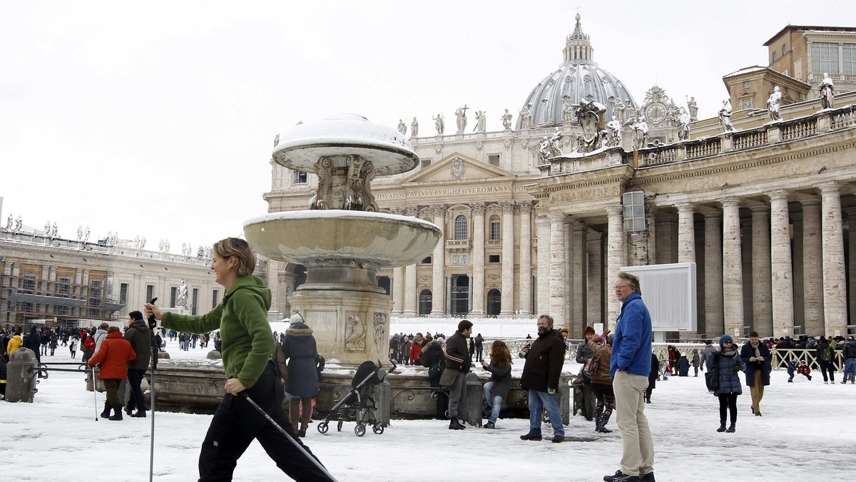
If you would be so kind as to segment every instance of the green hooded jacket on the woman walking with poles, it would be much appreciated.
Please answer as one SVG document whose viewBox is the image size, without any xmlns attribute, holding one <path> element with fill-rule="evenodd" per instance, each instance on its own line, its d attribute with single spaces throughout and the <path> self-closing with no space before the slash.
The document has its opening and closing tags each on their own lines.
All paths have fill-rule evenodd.
<svg viewBox="0 0 856 482">
<path fill-rule="evenodd" d="M 270 289 L 261 278 L 249 275 L 238 278 L 210 312 L 201 316 L 163 313 L 161 324 L 186 333 L 220 330 L 226 378 L 238 378 L 250 388 L 265 371 L 276 347 L 267 321 L 268 309 Z"/>
</svg>

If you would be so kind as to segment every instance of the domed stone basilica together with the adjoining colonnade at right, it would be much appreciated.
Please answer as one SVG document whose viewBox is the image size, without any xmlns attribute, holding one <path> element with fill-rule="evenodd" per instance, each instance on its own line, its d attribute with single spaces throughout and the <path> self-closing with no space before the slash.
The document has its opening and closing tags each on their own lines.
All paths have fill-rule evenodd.
<svg viewBox="0 0 856 482">
<path fill-rule="evenodd" d="M 726 132 L 658 86 L 637 102 L 593 51 L 578 16 L 560 68 L 526 96 L 516 122 L 507 114 L 503 130 L 487 132 L 477 121 L 469 133 L 465 110 L 454 134 L 437 119 L 436 134 L 411 131 L 419 168 L 372 190 L 381 211 L 431 221 L 443 241 L 415 265 L 378 273 L 393 313 L 546 312 L 582 336 L 587 324 L 615 323 L 611 286 L 622 266 L 693 262 L 698 332 L 681 337 L 852 330 L 856 95 L 826 110 L 817 99 L 795 102 L 781 122 L 737 112 Z M 587 144 L 574 116 L 583 104 L 617 122 L 615 142 Z M 314 175 L 271 166 L 270 211 L 306 209 Z M 634 213 L 621 195 L 630 192 L 644 199 L 642 229 L 626 229 Z M 270 262 L 274 310 L 290 312 L 303 279 L 303 266 Z"/>
</svg>

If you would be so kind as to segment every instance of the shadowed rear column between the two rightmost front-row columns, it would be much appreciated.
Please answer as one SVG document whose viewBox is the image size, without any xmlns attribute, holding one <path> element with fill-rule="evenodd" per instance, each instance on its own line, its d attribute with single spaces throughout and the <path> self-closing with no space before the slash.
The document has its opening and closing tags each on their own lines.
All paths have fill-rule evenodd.
<svg viewBox="0 0 856 482">
<path fill-rule="evenodd" d="M 820 199 L 803 199 L 803 332 L 823 334 L 823 240 Z"/>
</svg>

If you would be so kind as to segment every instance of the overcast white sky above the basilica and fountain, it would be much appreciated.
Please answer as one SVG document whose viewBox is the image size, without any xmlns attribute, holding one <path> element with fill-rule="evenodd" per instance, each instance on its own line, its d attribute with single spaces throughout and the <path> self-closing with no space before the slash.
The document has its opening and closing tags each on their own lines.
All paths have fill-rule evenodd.
<svg viewBox="0 0 856 482">
<path fill-rule="evenodd" d="M 432 114 L 463 104 L 498 130 L 562 62 L 576 5 L 3 3 L 0 222 L 145 235 L 150 249 L 169 238 L 174 253 L 241 235 L 267 211 L 277 133 L 357 112 L 391 127 L 417 116 L 430 134 Z M 856 3 L 621 0 L 580 15 L 595 60 L 637 102 L 657 83 L 708 117 L 722 75 L 766 65 L 782 27 L 852 27 Z"/>
</svg>

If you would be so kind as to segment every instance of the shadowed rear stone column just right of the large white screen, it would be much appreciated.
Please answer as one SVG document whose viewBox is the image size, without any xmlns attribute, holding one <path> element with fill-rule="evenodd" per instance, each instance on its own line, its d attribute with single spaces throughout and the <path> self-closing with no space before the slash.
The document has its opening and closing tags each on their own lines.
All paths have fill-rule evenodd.
<svg viewBox="0 0 856 482">
<path fill-rule="evenodd" d="M 704 336 L 725 333 L 722 318 L 722 212 L 704 212 Z"/>
</svg>

